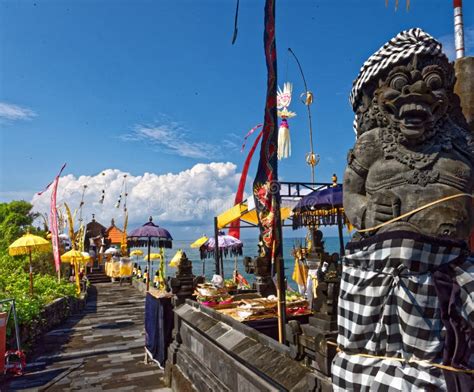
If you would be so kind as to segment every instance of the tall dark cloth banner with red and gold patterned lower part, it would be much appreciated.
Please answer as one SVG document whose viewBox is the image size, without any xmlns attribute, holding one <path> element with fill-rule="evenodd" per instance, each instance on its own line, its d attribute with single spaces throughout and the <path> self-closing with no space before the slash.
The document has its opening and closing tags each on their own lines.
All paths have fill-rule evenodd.
<svg viewBox="0 0 474 392">
<path fill-rule="evenodd" d="M 253 183 L 253 195 L 262 236 L 261 256 L 270 260 L 273 247 L 275 258 L 282 256 L 280 185 L 278 183 L 277 159 L 275 0 L 266 0 L 265 2 L 264 47 L 267 64 L 267 99 L 262 143 L 260 146 L 260 160 Z"/>
</svg>

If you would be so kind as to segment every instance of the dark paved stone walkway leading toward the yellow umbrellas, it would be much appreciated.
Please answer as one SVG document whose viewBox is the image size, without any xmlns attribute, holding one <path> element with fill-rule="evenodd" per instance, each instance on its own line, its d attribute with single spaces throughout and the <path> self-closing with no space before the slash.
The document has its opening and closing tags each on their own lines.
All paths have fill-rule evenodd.
<svg viewBox="0 0 474 392">
<path fill-rule="evenodd" d="M 92 287 L 85 310 L 47 333 L 27 373 L 3 391 L 171 391 L 161 370 L 144 363 L 143 294 L 130 285 Z"/>
</svg>

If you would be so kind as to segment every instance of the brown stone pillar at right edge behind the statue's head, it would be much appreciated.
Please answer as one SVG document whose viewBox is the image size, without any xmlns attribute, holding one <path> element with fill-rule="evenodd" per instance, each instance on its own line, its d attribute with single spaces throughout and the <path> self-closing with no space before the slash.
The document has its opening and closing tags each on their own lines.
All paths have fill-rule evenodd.
<svg viewBox="0 0 474 392">
<path fill-rule="evenodd" d="M 474 57 L 456 60 L 454 69 L 456 72 L 454 92 L 459 96 L 464 117 L 474 132 Z"/>
</svg>

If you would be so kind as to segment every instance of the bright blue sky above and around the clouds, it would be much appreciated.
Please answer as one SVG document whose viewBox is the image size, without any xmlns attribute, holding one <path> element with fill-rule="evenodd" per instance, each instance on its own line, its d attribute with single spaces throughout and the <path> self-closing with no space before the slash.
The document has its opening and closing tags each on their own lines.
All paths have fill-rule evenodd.
<svg viewBox="0 0 474 392">
<path fill-rule="evenodd" d="M 202 163 L 209 183 L 197 175 L 183 181 L 201 183 L 200 197 L 209 197 L 211 209 L 218 211 L 224 193 L 231 195 L 238 181 L 243 136 L 263 117 L 263 4 L 241 0 L 232 46 L 235 1 L 230 0 L 1 1 L 0 200 L 31 200 L 64 162 L 70 182 L 80 176 L 89 176 L 83 178 L 88 181 L 107 169 L 140 180 L 144 173 L 179 177 Z M 303 85 L 288 47 L 298 55 L 315 95 L 319 181 L 330 181 L 333 172 L 342 178 L 354 141 L 348 95 L 368 56 L 410 27 L 425 29 L 452 53 L 451 0 L 412 0 L 409 12 L 404 0 L 397 12 L 394 4 L 277 1 L 279 81 L 294 83 L 291 109 L 298 114 L 290 121 L 292 157 L 279 168 L 283 179 L 310 179 L 304 163 L 308 122 L 296 99 Z M 465 1 L 464 15 L 472 55 L 473 2 Z M 222 166 L 209 169 L 211 162 Z M 251 175 L 255 166 L 256 160 Z M 219 180 L 225 192 L 221 189 L 214 200 Z M 173 186 L 163 181 L 161 186 Z M 183 182 L 184 188 L 183 203 L 192 201 L 193 184 Z M 100 197 L 95 191 L 91 187 L 90 200 Z M 88 214 L 93 210 L 91 202 Z M 145 214 L 137 210 L 136 221 Z M 176 226 L 177 237 L 192 237 L 211 223 L 160 214 Z M 184 226 L 195 229 L 186 232 Z"/>
</svg>

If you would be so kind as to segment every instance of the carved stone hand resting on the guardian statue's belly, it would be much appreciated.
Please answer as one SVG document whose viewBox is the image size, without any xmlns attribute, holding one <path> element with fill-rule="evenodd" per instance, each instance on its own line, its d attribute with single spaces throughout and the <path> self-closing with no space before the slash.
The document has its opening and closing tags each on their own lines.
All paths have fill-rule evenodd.
<svg viewBox="0 0 474 392">
<path fill-rule="evenodd" d="M 379 225 L 400 216 L 400 198 L 393 192 L 374 193 L 368 202 L 366 228 Z"/>
</svg>

